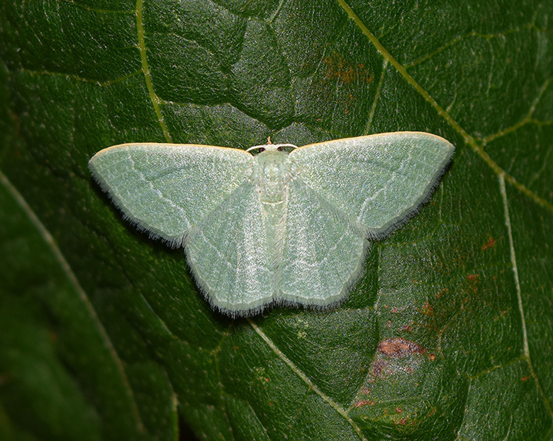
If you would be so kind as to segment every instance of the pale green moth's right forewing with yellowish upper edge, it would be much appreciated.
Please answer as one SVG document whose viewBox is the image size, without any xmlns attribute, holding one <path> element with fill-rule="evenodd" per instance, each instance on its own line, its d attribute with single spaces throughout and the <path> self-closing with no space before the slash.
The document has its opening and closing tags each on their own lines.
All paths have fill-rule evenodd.
<svg viewBox="0 0 553 441">
<path fill-rule="evenodd" d="M 294 176 L 380 239 L 430 196 L 453 151 L 435 134 L 394 132 L 310 144 L 290 161 Z"/>
</svg>

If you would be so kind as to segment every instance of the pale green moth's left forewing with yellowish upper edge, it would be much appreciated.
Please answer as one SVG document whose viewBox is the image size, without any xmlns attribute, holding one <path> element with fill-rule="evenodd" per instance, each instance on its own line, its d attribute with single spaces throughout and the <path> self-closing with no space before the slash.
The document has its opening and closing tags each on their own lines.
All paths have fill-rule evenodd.
<svg viewBox="0 0 553 441">
<path fill-rule="evenodd" d="M 186 231 L 252 173 L 254 156 L 195 144 L 121 144 L 89 168 L 125 217 L 151 236 L 181 246 Z"/>
</svg>

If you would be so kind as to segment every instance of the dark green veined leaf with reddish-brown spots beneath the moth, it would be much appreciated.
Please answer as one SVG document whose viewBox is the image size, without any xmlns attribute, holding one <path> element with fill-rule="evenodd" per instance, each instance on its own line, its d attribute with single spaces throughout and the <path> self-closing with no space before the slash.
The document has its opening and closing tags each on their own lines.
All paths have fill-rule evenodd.
<svg viewBox="0 0 553 441">
<path fill-rule="evenodd" d="M 0 8 L 0 439 L 553 440 L 551 2 Z M 86 168 L 395 130 L 454 159 L 322 313 L 212 311 Z"/>
</svg>

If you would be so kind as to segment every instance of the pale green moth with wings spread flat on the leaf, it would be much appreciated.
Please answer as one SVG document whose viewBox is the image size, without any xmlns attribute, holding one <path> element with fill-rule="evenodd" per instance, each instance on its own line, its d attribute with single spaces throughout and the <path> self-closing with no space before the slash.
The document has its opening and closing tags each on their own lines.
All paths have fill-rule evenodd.
<svg viewBox="0 0 553 441">
<path fill-rule="evenodd" d="M 274 303 L 339 304 L 361 273 L 367 239 L 415 213 L 453 151 L 423 132 L 248 151 L 121 144 L 89 168 L 130 222 L 184 246 L 213 307 L 247 316 Z"/>
</svg>

